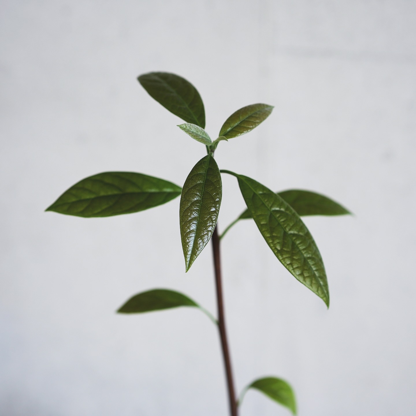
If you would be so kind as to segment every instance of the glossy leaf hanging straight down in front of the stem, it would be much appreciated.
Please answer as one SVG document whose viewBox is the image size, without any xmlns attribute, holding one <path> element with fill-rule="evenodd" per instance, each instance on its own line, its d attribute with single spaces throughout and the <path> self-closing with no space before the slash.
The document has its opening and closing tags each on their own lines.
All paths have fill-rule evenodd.
<svg viewBox="0 0 416 416">
<path fill-rule="evenodd" d="M 220 171 L 210 153 L 196 163 L 183 184 L 179 221 L 186 271 L 211 238 L 221 196 Z"/>
</svg>

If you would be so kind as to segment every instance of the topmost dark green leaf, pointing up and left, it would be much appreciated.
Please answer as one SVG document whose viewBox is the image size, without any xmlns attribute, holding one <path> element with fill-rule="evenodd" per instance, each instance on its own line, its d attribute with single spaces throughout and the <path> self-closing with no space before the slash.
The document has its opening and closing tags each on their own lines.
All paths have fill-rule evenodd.
<svg viewBox="0 0 416 416">
<path fill-rule="evenodd" d="M 169 72 L 149 72 L 137 78 L 142 87 L 163 107 L 188 123 L 205 127 L 205 109 L 196 88 Z"/>
</svg>

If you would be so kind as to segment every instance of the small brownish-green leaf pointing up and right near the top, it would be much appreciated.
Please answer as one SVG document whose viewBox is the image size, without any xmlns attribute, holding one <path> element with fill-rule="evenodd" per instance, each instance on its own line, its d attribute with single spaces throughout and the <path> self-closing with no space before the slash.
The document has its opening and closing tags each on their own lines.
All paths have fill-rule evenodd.
<svg viewBox="0 0 416 416">
<path fill-rule="evenodd" d="M 240 108 L 225 120 L 218 136 L 231 139 L 248 133 L 267 119 L 272 109 L 273 107 L 267 104 L 251 104 Z"/>
</svg>

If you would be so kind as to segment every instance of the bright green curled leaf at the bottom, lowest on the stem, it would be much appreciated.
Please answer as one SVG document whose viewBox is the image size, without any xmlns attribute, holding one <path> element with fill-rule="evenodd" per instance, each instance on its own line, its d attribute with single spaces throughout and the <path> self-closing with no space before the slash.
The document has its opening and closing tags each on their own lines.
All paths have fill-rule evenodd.
<svg viewBox="0 0 416 416">
<path fill-rule="evenodd" d="M 250 386 L 247 386 L 244 389 L 242 397 L 239 400 L 239 404 L 241 404 L 243 396 L 248 389 L 261 391 L 263 394 L 270 397 L 270 399 L 290 409 L 294 415 L 296 414 L 295 394 L 292 387 L 290 387 L 290 384 L 288 384 L 285 380 L 277 379 L 276 377 L 265 377 L 263 379 L 253 381 Z"/>
</svg>

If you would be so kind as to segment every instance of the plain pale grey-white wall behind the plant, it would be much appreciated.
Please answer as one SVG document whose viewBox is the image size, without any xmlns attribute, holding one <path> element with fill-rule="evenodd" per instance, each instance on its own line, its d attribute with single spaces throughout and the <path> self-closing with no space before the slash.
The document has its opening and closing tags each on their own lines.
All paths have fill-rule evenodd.
<svg viewBox="0 0 416 416">
<path fill-rule="evenodd" d="M 0 414 L 227 415 L 215 328 L 186 308 L 114 311 L 153 287 L 215 311 L 210 247 L 190 272 L 179 199 L 138 214 L 44 213 L 102 171 L 183 184 L 205 153 L 136 81 L 196 85 L 207 130 L 275 105 L 217 161 L 272 189 L 305 188 L 354 217 L 306 218 L 331 307 L 297 282 L 252 221 L 223 244 L 238 390 L 294 386 L 301 416 L 416 408 L 415 1 L 1 1 Z M 223 178 L 219 226 L 244 208 Z M 288 415 L 249 392 L 241 416 Z"/>
</svg>

